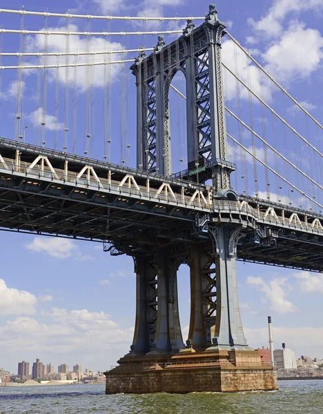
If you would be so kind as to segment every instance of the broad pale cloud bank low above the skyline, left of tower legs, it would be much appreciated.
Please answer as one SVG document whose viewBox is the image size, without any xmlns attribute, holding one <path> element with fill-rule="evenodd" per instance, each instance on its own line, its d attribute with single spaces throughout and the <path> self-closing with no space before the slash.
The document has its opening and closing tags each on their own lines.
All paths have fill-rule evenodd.
<svg viewBox="0 0 323 414">
<path fill-rule="evenodd" d="M 88 354 L 92 353 L 95 338 L 95 353 L 102 357 L 109 348 L 127 349 L 133 337 L 133 328 L 121 328 L 103 311 L 52 308 L 42 312 L 43 318 L 46 322 L 39 322 L 37 317 L 17 317 L 0 326 L 1 348 Z"/>
</svg>

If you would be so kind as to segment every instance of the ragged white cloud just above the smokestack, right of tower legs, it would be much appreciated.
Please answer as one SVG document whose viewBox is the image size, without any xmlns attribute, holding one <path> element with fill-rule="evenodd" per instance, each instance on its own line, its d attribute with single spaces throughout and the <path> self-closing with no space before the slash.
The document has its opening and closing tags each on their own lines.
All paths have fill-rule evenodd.
<svg viewBox="0 0 323 414">
<path fill-rule="evenodd" d="M 291 286 L 286 284 L 286 278 L 264 280 L 262 277 L 248 276 L 247 283 L 255 286 L 265 294 L 265 301 L 269 302 L 270 307 L 277 313 L 295 313 L 296 306 L 286 299 L 286 292 L 291 290 Z"/>
</svg>

